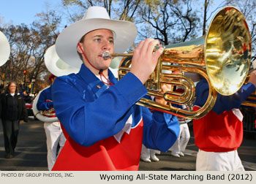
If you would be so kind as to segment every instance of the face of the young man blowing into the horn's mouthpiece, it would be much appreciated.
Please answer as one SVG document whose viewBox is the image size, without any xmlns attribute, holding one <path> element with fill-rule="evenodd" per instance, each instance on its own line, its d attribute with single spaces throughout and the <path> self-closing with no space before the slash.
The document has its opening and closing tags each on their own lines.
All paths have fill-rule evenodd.
<svg viewBox="0 0 256 184">
<path fill-rule="evenodd" d="M 97 69 L 108 69 L 111 64 L 111 58 L 105 60 L 102 58 L 102 53 L 109 51 L 113 53 L 114 42 L 113 42 L 113 33 L 108 29 L 97 29 L 89 32 L 83 39 L 83 42 L 80 43 L 83 52 L 86 54 L 86 57 L 89 59 L 90 63 Z M 80 48 L 78 47 L 78 52 Z M 83 56 L 83 64 L 91 68 Z"/>
</svg>

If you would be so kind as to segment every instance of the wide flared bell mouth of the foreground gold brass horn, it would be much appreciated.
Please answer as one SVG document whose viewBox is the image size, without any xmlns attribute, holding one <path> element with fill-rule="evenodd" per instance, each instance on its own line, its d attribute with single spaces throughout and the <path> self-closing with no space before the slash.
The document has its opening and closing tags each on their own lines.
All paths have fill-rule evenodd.
<svg viewBox="0 0 256 184">
<path fill-rule="evenodd" d="M 206 35 L 206 70 L 222 95 L 236 93 L 249 72 L 252 41 L 244 15 L 234 7 L 219 11 Z"/>
</svg>

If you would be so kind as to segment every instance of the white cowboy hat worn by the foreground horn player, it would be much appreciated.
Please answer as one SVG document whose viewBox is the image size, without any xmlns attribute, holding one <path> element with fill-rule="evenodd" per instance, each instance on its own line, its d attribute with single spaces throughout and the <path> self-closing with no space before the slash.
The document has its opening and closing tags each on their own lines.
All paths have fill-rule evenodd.
<svg viewBox="0 0 256 184">
<path fill-rule="evenodd" d="M 115 53 L 124 53 L 137 35 L 134 23 L 124 20 L 111 20 L 104 7 L 89 7 L 82 20 L 65 28 L 56 40 L 56 51 L 59 57 L 71 66 L 80 68 L 81 59 L 77 45 L 83 35 L 90 31 L 105 28 L 113 31 Z"/>
</svg>

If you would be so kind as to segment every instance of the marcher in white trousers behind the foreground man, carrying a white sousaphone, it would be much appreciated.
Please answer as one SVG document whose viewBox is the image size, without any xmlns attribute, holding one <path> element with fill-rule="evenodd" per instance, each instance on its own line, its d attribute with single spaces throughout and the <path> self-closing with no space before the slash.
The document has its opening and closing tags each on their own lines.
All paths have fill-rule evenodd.
<svg viewBox="0 0 256 184">
<path fill-rule="evenodd" d="M 53 108 L 53 101 L 51 96 L 52 85 L 56 76 L 50 74 L 49 80 L 51 85 L 45 88 L 40 94 L 37 101 L 38 110 L 50 110 Z M 44 122 L 46 145 L 47 145 L 47 163 L 49 171 L 53 168 L 53 165 L 57 158 L 57 149 L 59 145 L 59 153 L 65 144 L 66 138 L 61 129 L 59 121 L 56 122 Z"/>
</svg>

